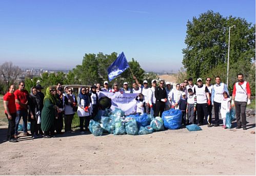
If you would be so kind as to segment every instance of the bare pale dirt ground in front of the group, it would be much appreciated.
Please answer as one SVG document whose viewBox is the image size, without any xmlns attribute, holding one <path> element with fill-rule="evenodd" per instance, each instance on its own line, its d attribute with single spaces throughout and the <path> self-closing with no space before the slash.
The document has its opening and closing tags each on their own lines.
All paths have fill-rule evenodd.
<svg viewBox="0 0 256 176">
<path fill-rule="evenodd" d="M 18 143 L 4 142 L 1 126 L 0 174 L 255 175 L 255 118 L 247 121 L 248 130 L 204 125 L 202 131 L 100 137 L 75 131 L 51 139 L 20 137 Z"/>
</svg>

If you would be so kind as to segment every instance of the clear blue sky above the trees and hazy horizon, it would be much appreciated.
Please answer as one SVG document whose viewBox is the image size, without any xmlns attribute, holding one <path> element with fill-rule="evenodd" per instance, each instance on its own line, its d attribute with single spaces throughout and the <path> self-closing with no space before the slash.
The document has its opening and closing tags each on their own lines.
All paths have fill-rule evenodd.
<svg viewBox="0 0 256 176">
<path fill-rule="evenodd" d="M 125 53 L 146 71 L 178 71 L 186 24 L 208 10 L 255 24 L 254 0 L 0 0 L 0 64 L 72 69 L 85 53 Z"/>
</svg>

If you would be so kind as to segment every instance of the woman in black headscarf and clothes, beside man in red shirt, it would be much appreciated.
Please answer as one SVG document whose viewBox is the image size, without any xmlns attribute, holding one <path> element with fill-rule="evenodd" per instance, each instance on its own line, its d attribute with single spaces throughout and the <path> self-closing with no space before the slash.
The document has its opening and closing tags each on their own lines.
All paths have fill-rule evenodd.
<svg viewBox="0 0 256 176">
<path fill-rule="evenodd" d="M 41 124 L 41 109 L 42 109 L 42 100 L 40 95 L 37 93 L 36 87 L 31 87 L 29 95 L 29 114 L 28 121 L 30 121 L 30 131 L 32 138 L 38 138 L 40 124 Z"/>
</svg>

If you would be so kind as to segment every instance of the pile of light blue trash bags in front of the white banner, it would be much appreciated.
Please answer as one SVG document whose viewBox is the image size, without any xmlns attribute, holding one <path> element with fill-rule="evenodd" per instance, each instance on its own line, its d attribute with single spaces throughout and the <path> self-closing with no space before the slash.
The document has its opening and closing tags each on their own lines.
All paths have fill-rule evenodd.
<svg viewBox="0 0 256 176">
<path fill-rule="evenodd" d="M 102 136 L 103 133 L 147 135 L 164 129 L 164 121 L 160 117 L 154 118 L 153 115 L 148 114 L 125 116 L 119 108 L 115 108 L 113 112 L 109 109 L 99 112 L 89 124 L 89 130 L 94 136 Z"/>
</svg>

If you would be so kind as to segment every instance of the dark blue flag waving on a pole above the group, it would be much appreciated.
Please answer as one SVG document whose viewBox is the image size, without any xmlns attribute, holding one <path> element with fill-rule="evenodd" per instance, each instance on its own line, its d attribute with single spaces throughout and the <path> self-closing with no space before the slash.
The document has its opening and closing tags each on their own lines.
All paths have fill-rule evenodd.
<svg viewBox="0 0 256 176">
<path fill-rule="evenodd" d="M 111 81 L 116 76 L 129 68 L 124 52 L 122 52 L 108 68 L 108 79 Z"/>
</svg>

